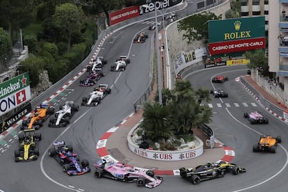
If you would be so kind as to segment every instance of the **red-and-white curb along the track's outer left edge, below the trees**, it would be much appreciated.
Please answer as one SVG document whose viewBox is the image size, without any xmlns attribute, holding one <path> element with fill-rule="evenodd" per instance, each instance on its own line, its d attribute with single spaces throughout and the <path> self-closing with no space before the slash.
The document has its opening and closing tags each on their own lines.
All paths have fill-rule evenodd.
<svg viewBox="0 0 288 192">
<path fill-rule="evenodd" d="M 95 50 L 92 58 L 90 59 L 89 63 L 93 63 L 93 59 L 95 59 L 99 53 L 99 50 L 101 49 L 102 45 L 104 44 L 106 38 L 108 38 L 112 33 L 107 34 L 102 40 L 101 42 L 99 42 L 99 45 L 97 47 L 97 49 Z M 54 99 L 57 95 L 59 95 L 63 90 L 65 90 L 68 86 L 70 86 L 74 81 L 76 81 L 79 77 L 81 77 L 81 75 L 83 73 L 86 72 L 86 68 L 84 68 L 83 70 L 81 70 L 81 72 L 79 72 L 78 74 L 76 74 L 72 79 L 70 79 L 70 81 L 68 81 L 67 83 L 65 83 L 64 86 L 62 86 L 58 91 L 56 91 L 53 95 L 51 95 L 50 97 L 48 97 L 45 102 L 43 103 L 48 103 L 51 101 L 51 99 Z M 28 113 L 27 115 L 25 115 L 21 120 L 15 122 L 15 124 L 11 125 L 11 127 L 9 127 L 6 131 L 3 131 L 3 133 L 0 134 L 0 141 L 2 138 L 4 138 L 5 136 L 7 136 L 8 134 L 10 134 L 12 131 L 14 131 L 18 126 L 22 126 L 22 122 L 23 120 L 26 120 L 27 118 L 29 118 L 31 115 L 33 114 L 33 111 L 31 111 L 30 113 Z"/>
</svg>

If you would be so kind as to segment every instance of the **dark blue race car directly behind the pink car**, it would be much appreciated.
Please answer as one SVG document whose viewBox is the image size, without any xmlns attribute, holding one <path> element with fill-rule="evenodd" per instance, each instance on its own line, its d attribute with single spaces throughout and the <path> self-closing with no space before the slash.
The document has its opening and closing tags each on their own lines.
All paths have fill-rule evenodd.
<svg viewBox="0 0 288 192">
<path fill-rule="evenodd" d="M 65 145 L 64 141 L 53 143 L 50 147 L 49 156 L 54 157 L 68 175 L 83 175 L 90 172 L 89 162 L 86 159 L 79 160 L 77 153 L 73 152 L 71 145 Z"/>
</svg>

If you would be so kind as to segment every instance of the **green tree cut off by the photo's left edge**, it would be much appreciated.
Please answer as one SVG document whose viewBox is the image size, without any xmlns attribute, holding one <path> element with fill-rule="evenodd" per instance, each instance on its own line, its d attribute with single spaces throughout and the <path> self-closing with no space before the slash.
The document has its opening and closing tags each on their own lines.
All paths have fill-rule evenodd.
<svg viewBox="0 0 288 192">
<path fill-rule="evenodd" d="M 6 61 L 9 60 L 12 51 L 12 42 L 7 31 L 0 28 L 0 71 L 6 70 Z"/>
</svg>

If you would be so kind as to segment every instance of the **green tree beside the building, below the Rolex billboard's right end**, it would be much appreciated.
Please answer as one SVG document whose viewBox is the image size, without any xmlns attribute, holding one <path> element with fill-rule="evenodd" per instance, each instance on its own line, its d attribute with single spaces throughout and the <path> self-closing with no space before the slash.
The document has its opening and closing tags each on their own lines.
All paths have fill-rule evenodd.
<svg viewBox="0 0 288 192">
<path fill-rule="evenodd" d="M 257 69 L 260 74 L 269 77 L 268 58 L 265 56 L 264 49 L 257 49 L 255 51 L 246 51 L 246 58 L 250 60 L 247 67 L 250 69 Z"/>
</svg>

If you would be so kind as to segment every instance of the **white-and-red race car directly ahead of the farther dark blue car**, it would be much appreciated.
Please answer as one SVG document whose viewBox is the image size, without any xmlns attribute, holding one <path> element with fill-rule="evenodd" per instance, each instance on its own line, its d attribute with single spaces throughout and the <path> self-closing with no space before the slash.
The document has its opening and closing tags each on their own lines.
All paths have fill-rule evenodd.
<svg viewBox="0 0 288 192">
<path fill-rule="evenodd" d="M 88 97 L 82 98 L 82 106 L 97 106 L 106 95 L 111 93 L 111 88 L 107 84 L 99 84 L 94 88 L 93 92 Z"/>
</svg>

